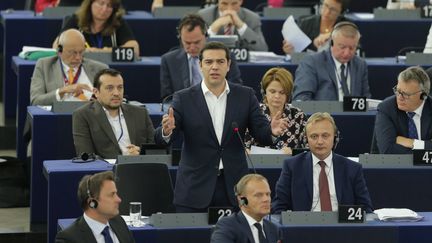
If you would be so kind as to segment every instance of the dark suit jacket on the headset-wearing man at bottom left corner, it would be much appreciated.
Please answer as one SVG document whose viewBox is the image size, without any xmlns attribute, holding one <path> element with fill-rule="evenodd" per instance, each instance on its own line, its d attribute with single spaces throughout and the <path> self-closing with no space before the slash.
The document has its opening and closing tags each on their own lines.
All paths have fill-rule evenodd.
<svg viewBox="0 0 432 243">
<path fill-rule="evenodd" d="M 135 242 L 132 233 L 129 231 L 125 221 L 120 215 L 109 221 L 111 229 L 116 234 L 121 243 Z M 56 243 L 96 243 L 96 239 L 85 221 L 81 216 L 75 220 L 68 228 L 60 231 L 56 235 Z"/>
</svg>

